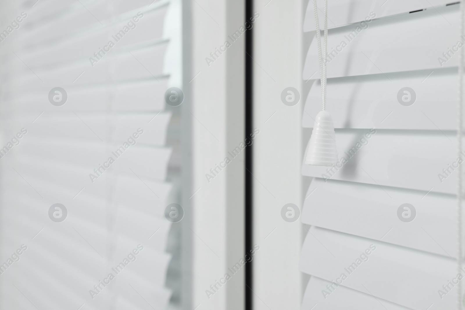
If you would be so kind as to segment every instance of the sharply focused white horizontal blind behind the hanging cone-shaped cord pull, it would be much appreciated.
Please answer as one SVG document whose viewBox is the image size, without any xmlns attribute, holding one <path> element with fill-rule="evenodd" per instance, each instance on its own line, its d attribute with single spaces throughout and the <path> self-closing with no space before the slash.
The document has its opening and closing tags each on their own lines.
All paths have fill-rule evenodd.
<svg viewBox="0 0 465 310">
<path fill-rule="evenodd" d="M 459 6 L 426 2 L 341 0 L 328 8 L 327 110 L 341 164 L 302 165 L 313 177 L 302 211 L 311 225 L 302 309 L 456 305 L 449 281 L 457 277 Z M 312 30 L 310 2 L 304 31 Z M 303 70 L 312 83 L 302 119 L 309 128 L 321 106 L 316 43 Z"/>
</svg>

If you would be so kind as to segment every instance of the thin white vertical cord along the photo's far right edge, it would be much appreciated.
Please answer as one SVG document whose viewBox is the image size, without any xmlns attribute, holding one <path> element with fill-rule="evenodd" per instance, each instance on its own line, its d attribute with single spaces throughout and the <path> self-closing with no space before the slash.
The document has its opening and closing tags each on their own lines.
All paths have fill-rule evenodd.
<svg viewBox="0 0 465 310">
<path fill-rule="evenodd" d="M 464 35 L 464 2 L 460 2 L 460 38 Z M 462 152 L 462 102 L 463 102 L 463 68 L 464 50 L 458 53 L 458 105 L 457 105 L 457 152 L 461 157 Z M 457 171 L 457 272 L 462 274 L 462 166 L 458 165 Z M 458 281 L 457 309 L 462 310 L 462 282 Z"/>
</svg>

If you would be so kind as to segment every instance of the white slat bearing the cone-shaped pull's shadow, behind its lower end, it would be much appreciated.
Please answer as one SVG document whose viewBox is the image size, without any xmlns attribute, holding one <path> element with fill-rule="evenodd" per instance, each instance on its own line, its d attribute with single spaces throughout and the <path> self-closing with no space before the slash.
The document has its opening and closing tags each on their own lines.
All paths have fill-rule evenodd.
<svg viewBox="0 0 465 310">
<path fill-rule="evenodd" d="M 378 130 L 369 139 L 365 134 L 370 131 L 337 131 L 338 157 L 341 163 L 343 157 L 347 162 L 339 171 L 333 168 L 334 173 L 329 167 L 305 165 L 304 162 L 303 175 L 416 189 L 424 194 L 428 191 L 455 194 L 457 176 L 449 168 L 454 162 L 457 165 L 455 134 Z M 449 169 L 448 177 L 443 169 Z"/>
</svg>

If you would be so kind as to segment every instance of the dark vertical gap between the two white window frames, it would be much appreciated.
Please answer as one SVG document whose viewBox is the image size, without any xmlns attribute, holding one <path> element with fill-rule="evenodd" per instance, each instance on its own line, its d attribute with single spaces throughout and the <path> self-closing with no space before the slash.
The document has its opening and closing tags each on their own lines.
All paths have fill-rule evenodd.
<svg viewBox="0 0 465 310">
<path fill-rule="evenodd" d="M 253 0 L 246 1 L 246 21 L 253 18 Z M 253 27 L 246 31 L 246 55 L 245 55 L 245 133 L 246 138 L 251 137 L 253 131 Z M 250 253 L 253 247 L 253 209 L 252 209 L 252 161 L 253 145 L 246 148 L 246 171 L 245 172 L 245 251 Z M 245 309 L 252 310 L 252 285 L 253 285 L 253 261 L 246 264 L 246 286 L 245 286 Z"/>
</svg>

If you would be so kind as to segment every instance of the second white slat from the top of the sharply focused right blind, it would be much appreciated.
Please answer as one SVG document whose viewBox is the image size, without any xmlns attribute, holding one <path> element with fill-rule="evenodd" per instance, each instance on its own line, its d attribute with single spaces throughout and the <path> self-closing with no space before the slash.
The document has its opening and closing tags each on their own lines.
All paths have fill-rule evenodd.
<svg viewBox="0 0 465 310">
<path fill-rule="evenodd" d="M 327 77 L 457 66 L 457 55 L 452 53 L 447 57 L 449 60 L 438 60 L 440 57 L 446 60 L 443 53 L 447 53 L 448 48 L 456 46 L 458 51 L 456 29 L 456 5 L 373 20 L 365 29 L 357 24 L 332 29 L 328 32 L 328 53 L 333 56 L 328 58 Z M 333 49 L 340 52 L 333 52 Z M 317 42 L 313 40 L 303 78 L 319 79 L 318 68 Z"/>
</svg>

